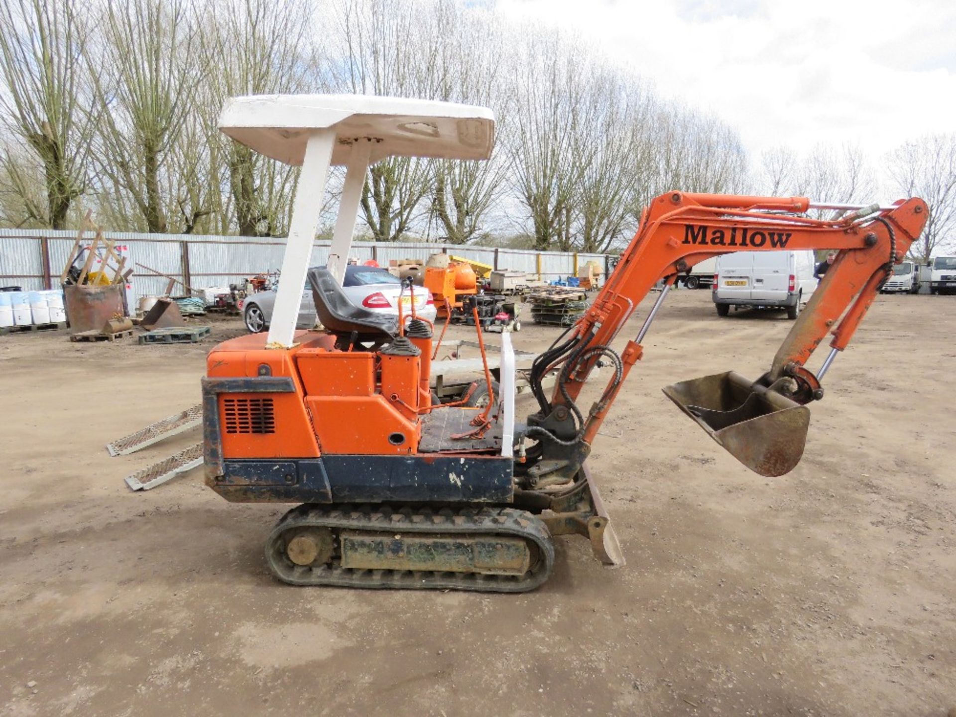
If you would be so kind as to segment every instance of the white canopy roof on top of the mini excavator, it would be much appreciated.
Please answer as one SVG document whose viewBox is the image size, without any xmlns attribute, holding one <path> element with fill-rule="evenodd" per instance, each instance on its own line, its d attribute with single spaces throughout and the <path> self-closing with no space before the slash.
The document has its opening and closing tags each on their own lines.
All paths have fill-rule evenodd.
<svg viewBox="0 0 956 717">
<path fill-rule="evenodd" d="M 312 130 L 335 129 L 333 164 L 353 141 L 375 143 L 370 162 L 392 155 L 487 160 L 494 144 L 488 107 L 366 95 L 250 95 L 229 98 L 219 129 L 274 160 L 301 164 Z"/>
</svg>

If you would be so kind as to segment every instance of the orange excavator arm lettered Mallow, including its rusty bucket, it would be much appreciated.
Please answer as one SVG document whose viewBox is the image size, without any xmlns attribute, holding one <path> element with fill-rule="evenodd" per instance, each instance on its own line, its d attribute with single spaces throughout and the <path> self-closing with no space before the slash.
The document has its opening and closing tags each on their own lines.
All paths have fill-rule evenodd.
<svg viewBox="0 0 956 717">
<path fill-rule="evenodd" d="M 836 209 L 832 220 L 806 215 Z M 823 397 L 820 380 L 836 352 L 846 348 L 880 286 L 923 230 L 921 199 L 893 206 L 812 205 L 804 197 L 774 198 L 670 192 L 644 209 L 641 228 L 587 313 L 532 366 L 538 413 L 525 437 L 526 485 L 544 488 L 573 481 L 597 429 L 634 364 L 641 340 L 677 277 L 705 259 L 732 251 L 836 250 L 830 270 L 758 380 L 734 372 L 684 381 L 664 389 L 684 412 L 745 465 L 781 475 L 799 461 L 809 425 L 805 404 Z M 615 337 L 659 280 L 659 294 L 640 334 L 618 354 Z M 817 373 L 806 363 L 827 335 L 831 352 Z M 576 399 L 600 362 L 612 370 L 587 413 Z M 558 369 L 550 399 L 540 377 Z"/>
</svg>

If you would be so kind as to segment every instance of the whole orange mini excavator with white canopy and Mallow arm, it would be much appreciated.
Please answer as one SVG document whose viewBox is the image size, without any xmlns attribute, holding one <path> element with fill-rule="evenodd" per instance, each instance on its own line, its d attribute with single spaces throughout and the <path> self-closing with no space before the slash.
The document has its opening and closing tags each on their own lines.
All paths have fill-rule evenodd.
<svg viewBox="0 0 956 717">
<path fill-rule="evenodd" d="M 516 423 L 509 333 L 494 408 L 436 405 L 432 327 L 368 312 L 340 288 L 368 164 L 389 154 L 488 157 L 489 110 L 393 98 L 233 98 L 220 126 L 257 151 L 303 164 L 269 337 L 220 344 L 203 380 L 206 483 L 230 501 L 299 504 L 266 543 L 272 573 L 293 585 L 526 591 L 550 575 L 554 536 L 570 533 L 589 538 L 605 564 L 621 563 L 586 459 L 676 278 L 730 251 L 838 251 L 767 373 L 664 389 L 744 465 L 786 473 L 803 452 L 807 404 L 823 398 L 824 374 L 927 216 L 920 199 L 836 206 L 657 197 L 586 314 L 534 361 L 537 410 Z M 326 268 L 308 270 L 332 163 L 347 167 L 336 230 Z M 812 208 L 840 216 L 813 219 Z M 306 278 L 322 329 L 295 332 Z M 659 279 L 663 291 L 640 333 L 616 344 Z M 831 350 L 814 373 L 807 362 L 828 334 Z M 598 362 L 610 379 L 584 408 L 577 399 Z M 542 379 L 555 371 L 547 395 Z"/>
</svg>

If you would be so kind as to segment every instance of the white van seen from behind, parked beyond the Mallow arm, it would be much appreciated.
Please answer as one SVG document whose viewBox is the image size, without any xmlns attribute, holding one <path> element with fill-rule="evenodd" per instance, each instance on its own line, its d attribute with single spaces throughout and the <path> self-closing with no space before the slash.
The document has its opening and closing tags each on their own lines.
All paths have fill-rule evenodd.
<svg viewBox="0 0 956 717">
<path fill-rule="evenodd" d="M 816 290 L 814 252 L 738 251 L 717 257 L 713 299 L 717 314 L 730 307 L 786 309 L 796 318 Z"/>
</svg>

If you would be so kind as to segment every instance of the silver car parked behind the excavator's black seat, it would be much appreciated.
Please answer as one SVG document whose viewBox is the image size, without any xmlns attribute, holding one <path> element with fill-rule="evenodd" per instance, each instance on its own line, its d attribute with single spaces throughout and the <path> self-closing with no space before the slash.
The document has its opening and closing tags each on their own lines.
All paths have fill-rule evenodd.
<svg viewBox="0 0 956 717">
<path fill-rule="evenodd" d="M 399 313 L 401 296 L 402 315 L 411 315 L 411 294 L 407 288 L 402 289 L 402 282 L 397 276 L 379 267 L 345 268 L 345 280 L 342 282 L 345 295 L 356 306 L 380 314 Z M 415 313 L 434 322 L 435 302 L 431 293 L 417 286 L 414 289 Z M 242 315 L 246 321 L 246 328 L 253 334 L 265 331 L 272 321 L 272 307 L 275 305 L 275 290 L 253 293 L 247 296 L 242 303 Z M 315 326 L 315 302 L 312 296 L 312 287 L 306 285 L 299 303 L 299 315 L 295 325 L 300 329 L 310 329 Z"/>
</svg>

